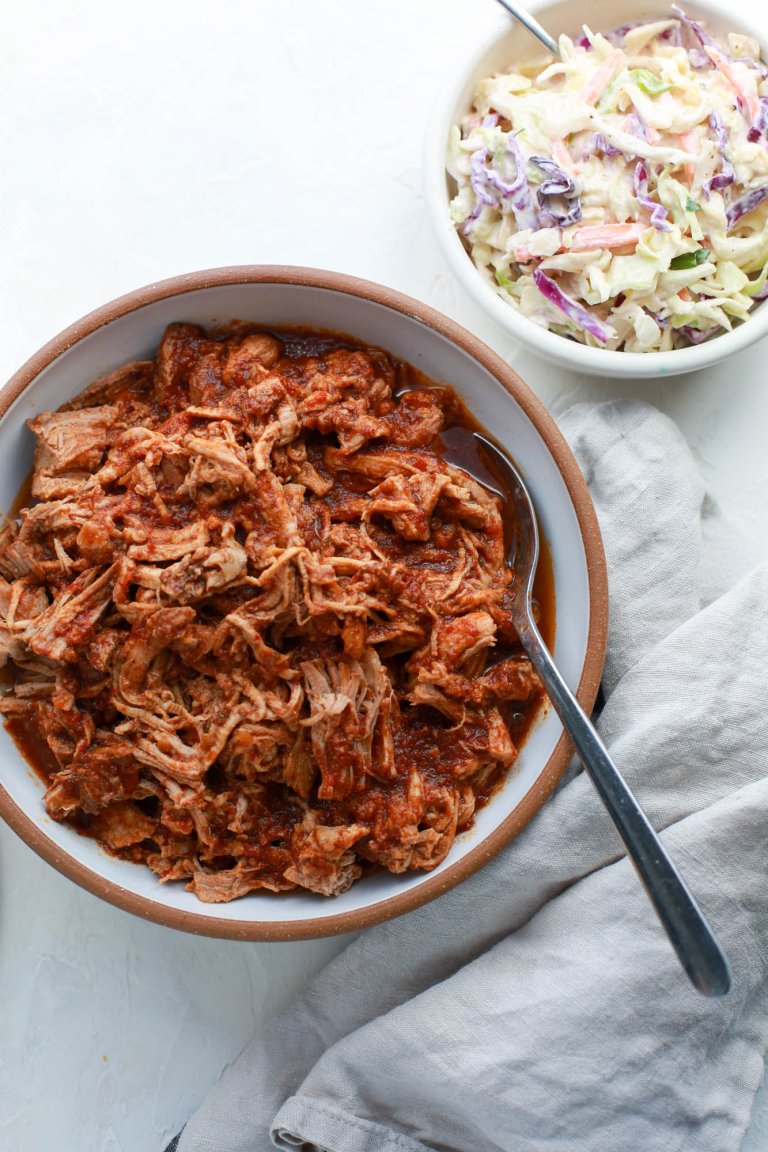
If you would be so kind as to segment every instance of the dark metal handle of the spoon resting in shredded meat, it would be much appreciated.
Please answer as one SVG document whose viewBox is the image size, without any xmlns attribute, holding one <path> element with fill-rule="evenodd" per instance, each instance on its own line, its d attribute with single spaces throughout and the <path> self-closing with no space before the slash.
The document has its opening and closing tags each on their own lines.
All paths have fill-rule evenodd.
<svg viewBox="0 0 768 1152">
<path fill-rule="evenodd" d="M 705 996 L 725 995 L 731 986 L 730 967 L 701 909 L 608 755 L 592 721 L 557 670 L 533 620 L 522 611 L 516 615 L 523 646 L 616 825 L 691 983 Z"/>
</svg>

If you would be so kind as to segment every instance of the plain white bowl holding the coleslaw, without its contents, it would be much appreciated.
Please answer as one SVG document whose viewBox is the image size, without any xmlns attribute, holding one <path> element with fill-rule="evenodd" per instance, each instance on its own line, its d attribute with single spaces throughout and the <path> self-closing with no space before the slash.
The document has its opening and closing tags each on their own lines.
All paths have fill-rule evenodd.
<svg viewBox="0 0 768 1152">
<path fill-rule="evenodd" d="M 716 35 L 747 32 L 755 36 L 762 45 L 763 59 L 768 58 L 768 16 L 760 13 L 758 5 L 752 6 L 748 22 L 733 15 L 725 0 L 692 0 L 691 3 L 680 0 L 680 6 L 694 18 L 706 21 Z M 532 0 L 527 7 L 555 37 L 561 32 L 577 36 L 583 24 L 599 31 L 633 21 L 663 20 L 670 15 L 667 0 Z M 669 353 L 617 353 L 588 348 L 555 332 L 547 332 L 520 316 L 476 268 L 448 211 L 455 192 L 455 184 L 446 173 L 448 134 L 451 126 L 459 123 L 470 111 L 478 81 L 508 69 L 515 61 L 542 53 L 543 48 L 520 24 L 511 17 L 500 16 L 497 31 L 477 48 L 463 71 L 451 78 L 429 119 L 424 146 L 425 198 L 440 247 L 470 296 L 505 333 L 545 359 L 596 376 L 633 379 L 693 372 L 762 339 L 768 333 L 766 304 L 756 305 L 748 320 L 732 332 L 691 348 Z"/>
</svg>

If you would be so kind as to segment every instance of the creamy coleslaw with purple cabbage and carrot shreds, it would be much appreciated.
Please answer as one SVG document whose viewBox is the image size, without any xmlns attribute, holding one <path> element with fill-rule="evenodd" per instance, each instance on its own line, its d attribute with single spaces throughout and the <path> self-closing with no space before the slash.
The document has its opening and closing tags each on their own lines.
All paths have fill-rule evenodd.
<svg viewBox="0 0 768 1152">
<path fill-rule="evenodd" d="M 451 217 L 534 323 L 663 351 L 768 296 L 768 68 L 751 37 L 668 20 L 560 38 L 484 79 L 451 129 Z"/>
</svg>

